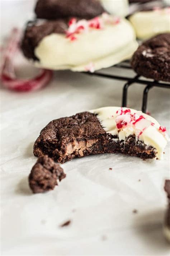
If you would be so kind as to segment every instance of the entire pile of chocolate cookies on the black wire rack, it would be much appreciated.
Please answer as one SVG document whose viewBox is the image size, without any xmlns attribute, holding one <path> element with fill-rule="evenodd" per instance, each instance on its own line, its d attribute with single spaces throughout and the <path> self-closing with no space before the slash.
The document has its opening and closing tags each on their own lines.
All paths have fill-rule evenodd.
<svg viewBox="0 0 170 256">
<path fill-rule="evenodd" d="M 134 54 L 138 75 L 170 81 L 170 8 L 153 6 L 128 21 L 120 18 L 128 14 L 127 0 L 38 0 L 38 19 L 27 25 L 23 53 L 37 67 L 90 72 Z M 136 36 L 149 40 L 137 49 Z"/>
</svg>

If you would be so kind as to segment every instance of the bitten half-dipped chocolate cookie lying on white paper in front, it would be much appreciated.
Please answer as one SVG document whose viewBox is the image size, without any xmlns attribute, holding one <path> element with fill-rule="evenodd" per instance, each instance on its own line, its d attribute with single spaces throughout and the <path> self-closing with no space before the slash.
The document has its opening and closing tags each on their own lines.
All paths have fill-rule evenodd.
<svg viewBox="0 0 170 256">
<path fill-rule="evenodd" d="M 34 144 L 34 155 L 47 154 L 60 163 L 101 153 L 161 158 L 166 144 L 166 128 L 151 116 L 103 107 L 50 122 Z"/>
</svg>

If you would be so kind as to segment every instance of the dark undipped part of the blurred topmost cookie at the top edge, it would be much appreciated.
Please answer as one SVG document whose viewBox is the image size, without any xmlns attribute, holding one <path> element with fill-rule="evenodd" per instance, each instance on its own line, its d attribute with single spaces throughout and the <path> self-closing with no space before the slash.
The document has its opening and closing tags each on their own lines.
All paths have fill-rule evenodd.
<svg viewBox="0 0 170 256">
<path fill-rule="evenodd" d="M 103 12 L 105 10 L 98 0 L 38 0 L 35 8 L 37 18 L 42 19 L 91 19 Z"/>
</svg>

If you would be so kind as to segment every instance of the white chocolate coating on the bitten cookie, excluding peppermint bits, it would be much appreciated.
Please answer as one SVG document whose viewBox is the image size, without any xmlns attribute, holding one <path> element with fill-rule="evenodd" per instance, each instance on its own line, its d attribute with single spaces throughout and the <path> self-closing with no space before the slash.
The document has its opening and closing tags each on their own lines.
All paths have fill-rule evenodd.
<svg viewBox="0 0 170 256">
<path fill-rule="evenodd" d="M 137 122 L 135 125 L 130 123 L 126 127 L 118 129 L 116 123 L 117 120 L 122 117 L 125 117 L 126 120 L 128 120 L 127 118 L 129 117 L 129 114 L 126 114 L 127 116 L 119 115 L 120 110 L 120 107 L 101 107 L 100 109 L 91 110 L 90 112 L 97 114 L 97 118 L 107 133 L 117 135 L 119 140 L 126 140 L 129 135 L 135 134 L 136 140 L 143 141 L 147 146 L 154 147 L 156 149 L 156 157 L 161 159 L 167 144 L 167 137 L 166 134 L 159 131 L 160 124 L 151 116 L 146 115 L 141 111 L 130 109 L 131 114 L 136 113 L 138 116 L 143 115 L 145 119 L 142 119 L 141 122 Z M 123 107 L 122 110 L 129 109 Z M 119 113 L 117 113 L 117 111 L 119 111 Z M 148 121 L 154 123 L 154 125 L 150 125 L 150 122 Z M 146 124 L 147 122 L 149 125 Z M 140 134 L 141 131 L 142 133 Z"/>
</svg>

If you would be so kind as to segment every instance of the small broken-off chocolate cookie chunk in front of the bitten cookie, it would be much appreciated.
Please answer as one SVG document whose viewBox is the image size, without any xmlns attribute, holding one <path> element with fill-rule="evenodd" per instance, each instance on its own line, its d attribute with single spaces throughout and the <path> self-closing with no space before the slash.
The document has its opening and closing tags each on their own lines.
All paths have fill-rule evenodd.
<svg viewBox="0 0 170 256">
<path fill-rule="evenodd" d="M 47 155 L 39 156 L 29 175 L 29 186 L 33 193 L 53 190 L 66 177 L 63 169 Z"/>
</svg>

